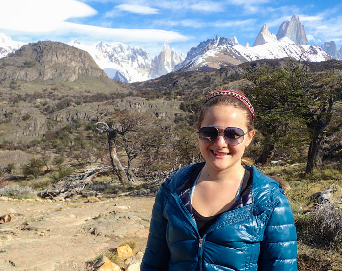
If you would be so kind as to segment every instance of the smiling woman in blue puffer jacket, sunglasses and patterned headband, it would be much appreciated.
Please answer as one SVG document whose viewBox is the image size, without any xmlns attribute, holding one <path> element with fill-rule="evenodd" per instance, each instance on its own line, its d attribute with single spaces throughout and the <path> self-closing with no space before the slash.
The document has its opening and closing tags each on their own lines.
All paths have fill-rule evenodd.
<svg viewBox="0 0 342 271">
<path fill-rule="evenodd" d="M 183 167 L 155 200 L 141 270 L 297 270 L 296 228 L 279 183 L 242 166 L 255 134 L 241 93 L 205 100 L 197 135 L 205 162 Z"/>
</svg>

